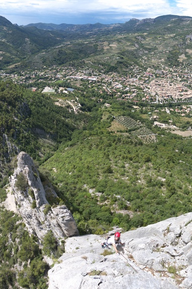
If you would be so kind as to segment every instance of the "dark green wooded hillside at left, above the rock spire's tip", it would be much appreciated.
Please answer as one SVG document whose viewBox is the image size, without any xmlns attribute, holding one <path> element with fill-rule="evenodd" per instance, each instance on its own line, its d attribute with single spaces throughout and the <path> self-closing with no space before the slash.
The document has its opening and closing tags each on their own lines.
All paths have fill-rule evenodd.
<svg viewBox="0 0 192 289">
<path fill-rule="evenodd" d="M 53 154 L 59 143 L 70 140 L 75 126 L 86 119 L 85 115 L 54 105 L 49 96 L 10 81 L 0 83 L 0 109 L 1 180 L 11 173 L 10 161 L 18 151 L 41 162 Z"/>
</svg>

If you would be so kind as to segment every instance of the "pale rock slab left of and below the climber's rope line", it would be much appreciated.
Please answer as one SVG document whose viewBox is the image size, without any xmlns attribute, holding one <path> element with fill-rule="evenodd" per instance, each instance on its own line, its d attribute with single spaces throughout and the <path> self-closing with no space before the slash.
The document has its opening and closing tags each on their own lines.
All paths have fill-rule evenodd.
<svg viewBox="0 0 192 289">
<path fill-rule="evenodd" d="M 122 237 L 124 239 L 124 234 Z M 66 253 L 59 258 L 60 263 L 48 272 L 49 289 L 63 288 L 63 280 L 65 287 L 70 289 L 111 289 L 114 286 L 129 289 L 178 288 L 167 280 L 141 270 L 127 254 L 116 254 L 113 249 L 102 249 L 102 240 L 97 235 L 68 238 L 65 244 Z M 112 254 L 103 256 L 104 251 Z"/>
</svg>

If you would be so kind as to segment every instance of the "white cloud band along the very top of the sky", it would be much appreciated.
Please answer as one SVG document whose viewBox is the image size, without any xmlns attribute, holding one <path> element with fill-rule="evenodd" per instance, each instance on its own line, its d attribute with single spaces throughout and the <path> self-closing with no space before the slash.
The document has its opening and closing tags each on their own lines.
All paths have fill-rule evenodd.
<svg viewBox="0 0 192 289">
<path fill-rule="evenodd" d="M 156 8 L 167 7 L 168 2 L 165 0 L 32 0 L 31 1 L 18 1 L 12 0 L 7 2 L 1 0 L 0 9 L 15 10 L 15 11 L 52 11 L 52 12 L 74 12 L 74 13 L 91 13 L 96 11 L 117 11 L 117 12 L 139 12 L 140 10 L 156 10 Z"/>
</svg>

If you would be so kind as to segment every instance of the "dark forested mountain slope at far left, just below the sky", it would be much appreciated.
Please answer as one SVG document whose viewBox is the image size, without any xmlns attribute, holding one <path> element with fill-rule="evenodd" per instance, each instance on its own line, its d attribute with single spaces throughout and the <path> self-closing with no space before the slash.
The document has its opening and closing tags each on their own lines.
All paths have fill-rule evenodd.
<svg viewBox="0 0 192 289">
<path fill-rule="evenodd" d="M 65 33 L 66 34 L 66 33 Z M 0 16 L 0 69 L 19 63 L 31 54 L 58 45 L 64 41 L 63 32 L 19 27 Z"/>
</svg>

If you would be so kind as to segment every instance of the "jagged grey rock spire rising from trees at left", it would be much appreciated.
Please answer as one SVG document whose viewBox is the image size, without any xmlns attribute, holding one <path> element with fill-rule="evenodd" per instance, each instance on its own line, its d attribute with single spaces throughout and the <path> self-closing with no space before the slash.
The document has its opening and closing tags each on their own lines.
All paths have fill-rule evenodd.
<svg viewBox="0 0 192 289">
<path fill-rule="evenodd" d="M 49 230 L 52 230 L 58 240 L 79 235 L 74 218 L 67 207 L 49 205 L 34 162 L 25 152 L 18 155 L 18 167 L 10 177 L 10 185 L 17 209 L 30 234 L 36 234 L 40 241 Z M 58 199 L 53 190 L 51 194 L 52 198 Z"/>
</svg>

